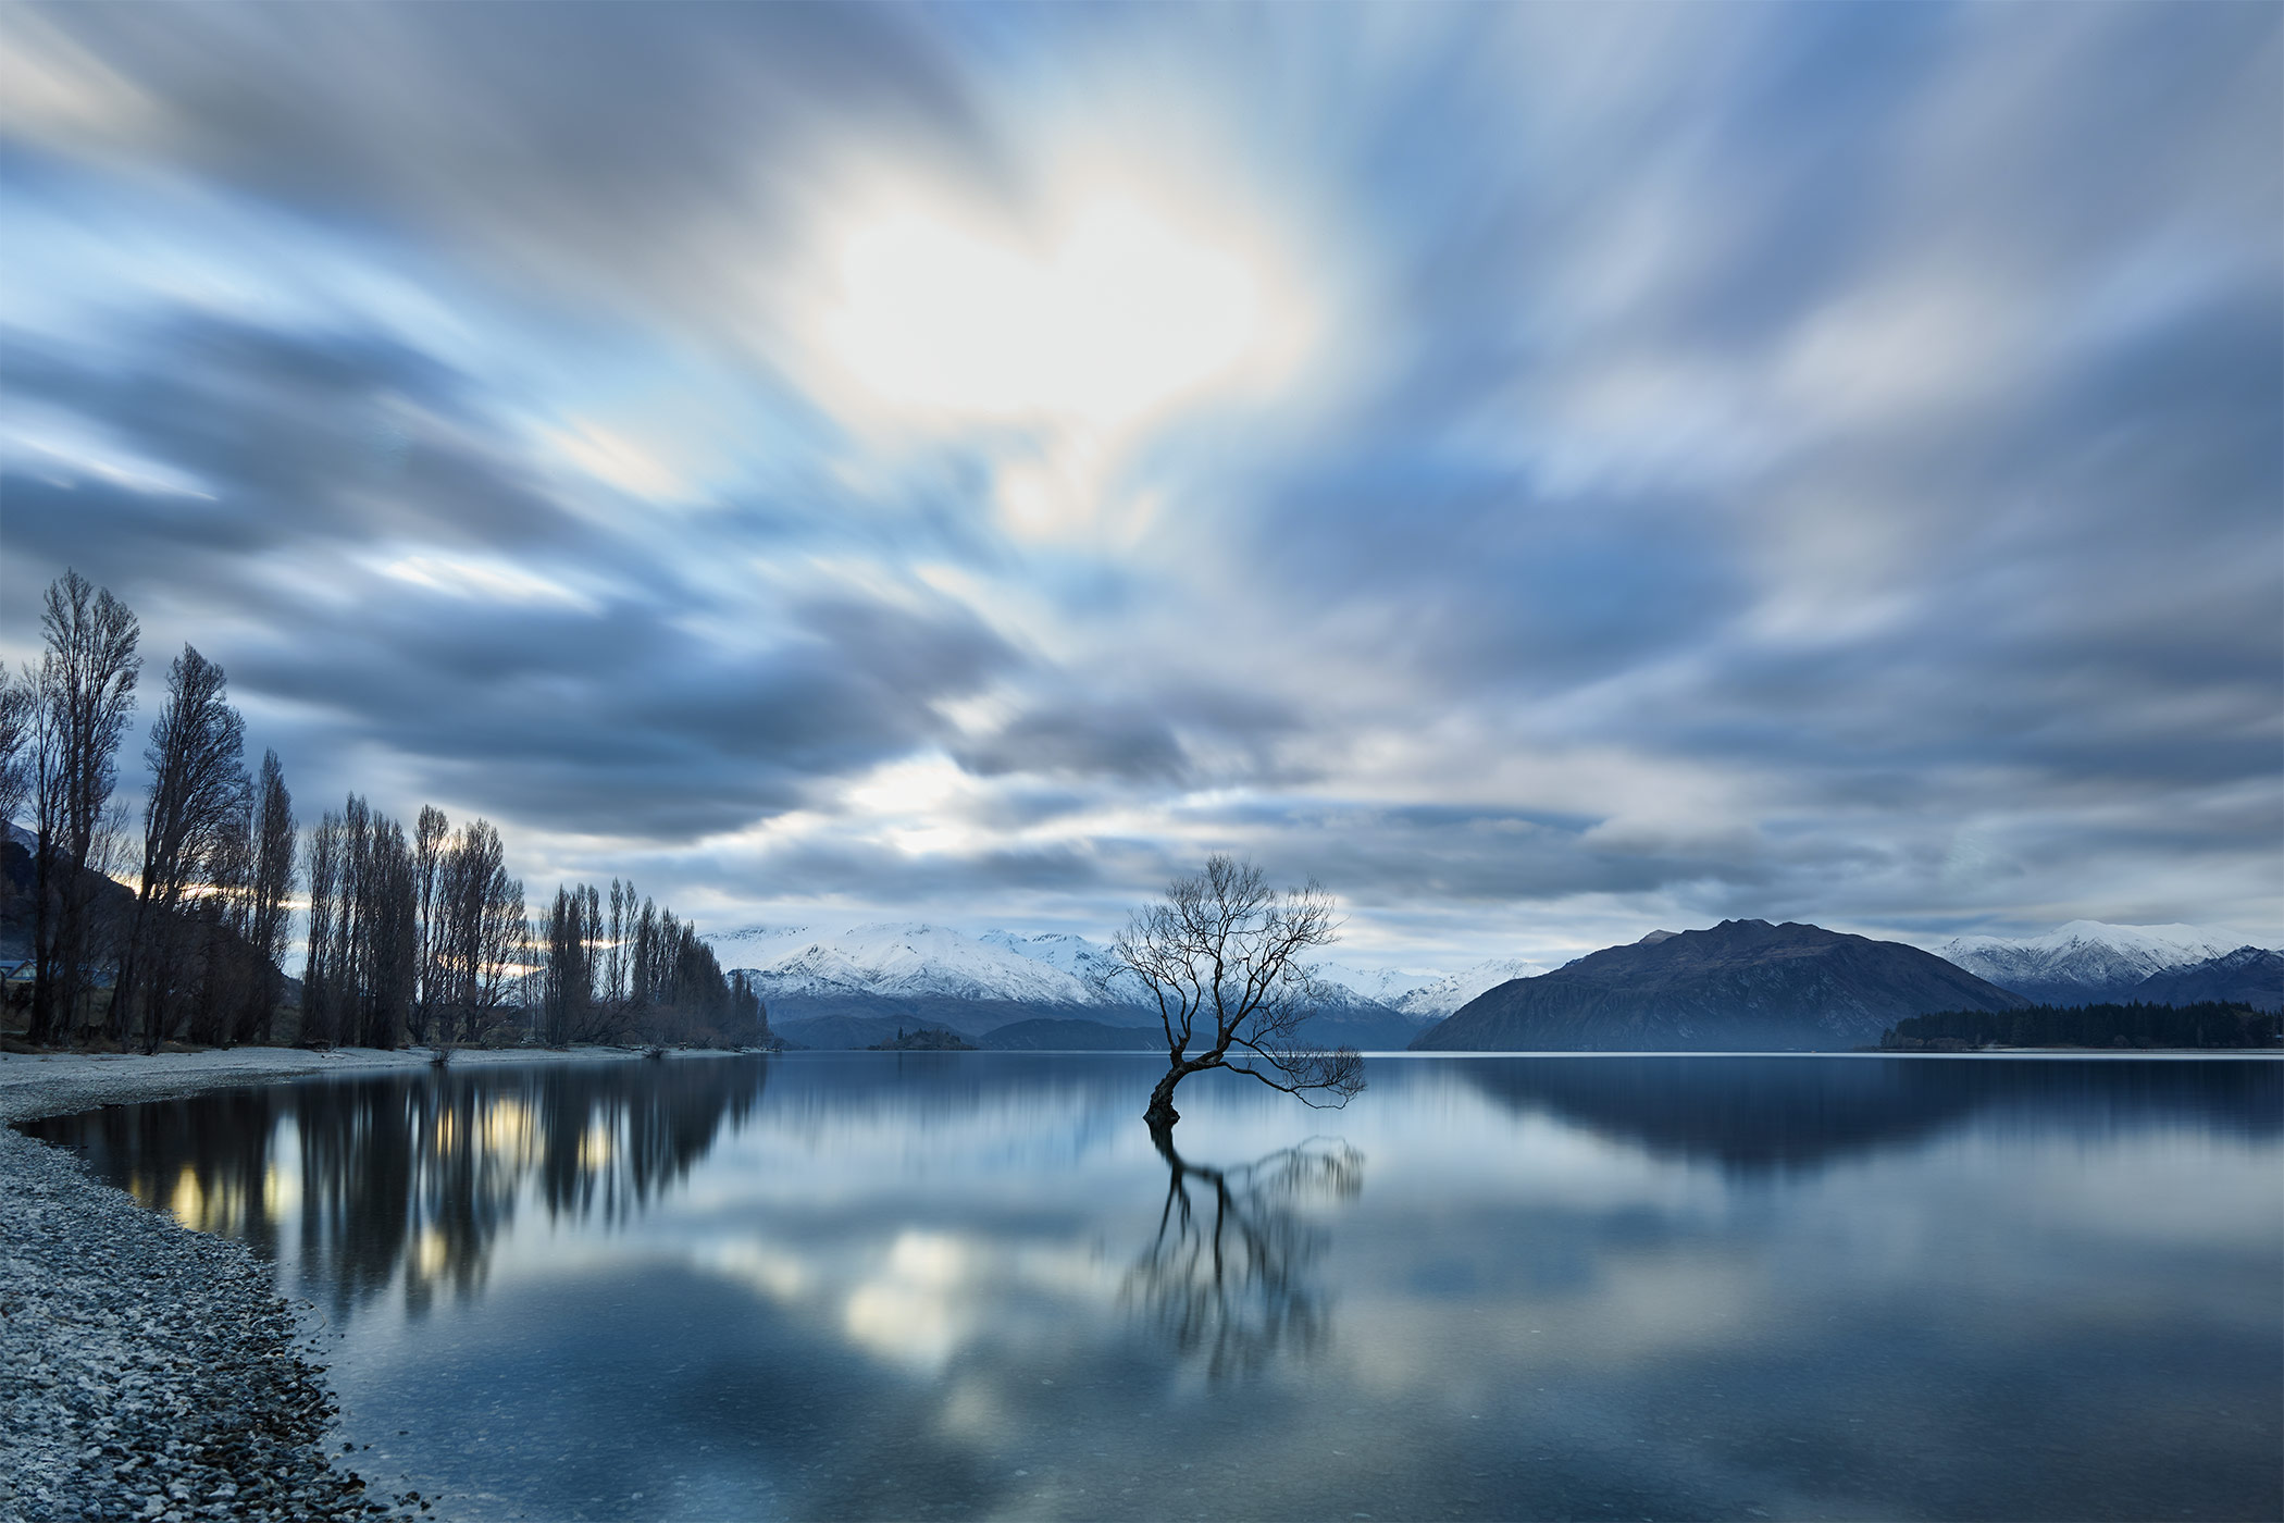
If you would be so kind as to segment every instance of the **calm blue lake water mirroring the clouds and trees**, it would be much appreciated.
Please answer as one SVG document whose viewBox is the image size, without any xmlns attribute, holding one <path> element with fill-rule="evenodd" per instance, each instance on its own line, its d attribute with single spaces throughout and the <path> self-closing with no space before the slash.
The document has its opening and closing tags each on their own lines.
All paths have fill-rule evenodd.
<svg viewBox="0 0 2284 1523">
<path fill-rule="evenodd" d="M 34 1130 L 448 1516 L 2275 1518 L 2284 1064 L 455 1071 Z"/>
</svg>

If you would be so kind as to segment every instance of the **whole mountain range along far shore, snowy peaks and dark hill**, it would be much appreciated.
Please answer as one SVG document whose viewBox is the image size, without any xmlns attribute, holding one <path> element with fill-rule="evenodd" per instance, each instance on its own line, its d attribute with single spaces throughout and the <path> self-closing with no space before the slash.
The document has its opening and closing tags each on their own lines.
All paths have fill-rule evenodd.
<svg viewBox="0 0 2284 1523">
<path fill-rule="evenodd" d="M 1761 932 L 1729 927 L 1786 932 L 1791 943 L 1750 950 L 1745 943 Z M 1690 938 L 1715 932 L 1738 945 L 1729 954 L 1704 957 L 1708 943 Z M 1845 957 L 1829 948 L 1811 957 L 1802 938 L 1861 945 Z M 747 927 L 710 941 L 724 966 L 742 968 L 754 980 L 770 1005 L 772 1028 L 802 1046 L 861 1048 L 895 1037 L 900 1028 L 943 1028 L 987 1048 L 1140 1050 L 1160 1041 L 1156 1012 L 1140 984 L 1115 968 L 1105 945 L 1085 936 L 968 936 L 941 925 L 875 922 L 847 929 Z M 1640 952 L 1667 941 L 1683 945 L 1654 957 Z M 2231 948 L 2229 941 L 2186 925 L 2076 920 L 2017 941 L 1960 936 L 1944 943 L 1944 957 L 1935 957 L 1820 927 L 1731 920 L 1711 932 L 1651 932 L 1633 948 L 1608 948 L 1553 973 L 1523 959 L 1491 959 L 1441 975 L 1322 964 L 1318 980 L 1327 1000 L 1306 1034 L 1366 1050 L 1475 1046 L 1505 1030 L 1485 1025 L 1491 1007 L 1473 1009 L 1494 993 L 1501 996 L 1494 1002 L 1498 1009 L 1537 1012 L 1530 1023 L 1553 1021 L 1560 1028 L 1562 1021 L 1583 1021 L 1565 1039 L 1567 1046 L 1622 1048 L 1651 1034 L 1679 1046 L 1875 1043 L 1884 1023 L 1946 1000 L 1971 1009 L 2008 1007 L 1989 1002 L 1994 993 L 2058 1005 L 2266 998 L 2263 1007 L 2275 1007 L 2284 1000 L 2284 957 Z M 1615 957 L 1624 952 L 1633 957 Z M 1686 993 L 1690 980 L 1697 986 Z M 1628 1007 L 1619 996 L 1656 996 L 1665 1014 L 1651 1016 L 1649 1005 L 1638 1000 Z M 1930 998 L 1937 1002 L 1928 1005 Z M 1571 1016 L 1555 1014 L 1571 1007 Z M 1601 1014 L 1587 1018 L 1581 1014 L 1585 1007 Z M 1813 1032 L 1800 1025 L 1809 1007 L 1823 1021 Z M 1469 1012 L 1464 1025 L 1437 1028 L 1462 1009 Z M 1695 1032 L 1686 1041 L 1683 1025 Z M 1533 1046 L 1551 1039 L 1544 1032 L 1528 1037 Z"/>
</svg>

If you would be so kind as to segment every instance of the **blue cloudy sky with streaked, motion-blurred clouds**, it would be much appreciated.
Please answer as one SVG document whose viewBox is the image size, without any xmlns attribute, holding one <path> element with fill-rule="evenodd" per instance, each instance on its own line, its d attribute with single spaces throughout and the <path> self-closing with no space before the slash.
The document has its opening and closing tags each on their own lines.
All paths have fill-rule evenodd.
<svg viewBox="0 0 2284 1523">
<path fill-rule="evenodd" d="M 708 929 L 2273 943 L 2279 32 L 7 5 L 0 655 Z"/>
</svg>

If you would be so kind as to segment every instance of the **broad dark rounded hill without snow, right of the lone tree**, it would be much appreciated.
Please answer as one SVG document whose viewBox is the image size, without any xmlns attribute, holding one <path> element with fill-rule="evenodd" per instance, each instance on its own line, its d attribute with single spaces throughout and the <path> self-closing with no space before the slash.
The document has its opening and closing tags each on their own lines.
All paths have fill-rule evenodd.
<svg viewBox="0 0 2284 1523">
<path fill-rule="evenodd" d="M 1651 932 L 1501 984 L 1423 1032 L 1432 1053 L 1848 1050 L 1905 1016 L 2028 1000 L 1898 941 L 1722 920 Z"/>
</svg>

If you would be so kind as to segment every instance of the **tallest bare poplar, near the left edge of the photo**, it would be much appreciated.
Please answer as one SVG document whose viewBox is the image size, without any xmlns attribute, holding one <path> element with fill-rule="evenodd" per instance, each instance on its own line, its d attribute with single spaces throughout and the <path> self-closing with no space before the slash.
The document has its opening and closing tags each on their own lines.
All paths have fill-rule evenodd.
<svg viewBox="0 0 2284 1523">
<path fill-rule="evenodd" d="M 128 605 L 78 571 L 48 585 L 39 662 L 32 795 L 39 822 L 32 920 L 34 1043 L 71 1032 L 89 973 L 89 854 L 103 831 L 119 742 L 135 712 L 142 628 Z"/>
</svg>

